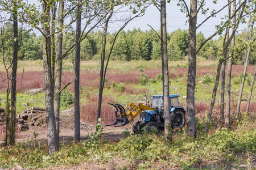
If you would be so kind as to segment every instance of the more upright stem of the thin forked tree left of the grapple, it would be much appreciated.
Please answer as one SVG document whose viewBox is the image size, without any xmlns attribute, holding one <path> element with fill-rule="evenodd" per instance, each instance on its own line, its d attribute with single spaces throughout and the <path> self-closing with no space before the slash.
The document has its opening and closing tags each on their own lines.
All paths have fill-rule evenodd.
<svg viewBox="0 0 256 170">
<path fill-rule="evenodd" d="M 103 94 L 103 88 L 104 88 L 104 62 L 105 62 L 105 56 L 106 56 L 106 35 L 108 31 L 108 24 L 109 20 L 112 16 L 113 12 L 110 12 L 108 18 L 106 19 L 104 32 L 102 34 L 102 41 L 101 41 L 101 71 L 100 71 L 100 87 L 98 90 L 98 110 L 97 110 L 97 120 L 101 117 L 101 104 L 102 104 L 102 94 Z M 98 128 L 96 128 L 96 131 L 98 131 Z"/>
</svg>

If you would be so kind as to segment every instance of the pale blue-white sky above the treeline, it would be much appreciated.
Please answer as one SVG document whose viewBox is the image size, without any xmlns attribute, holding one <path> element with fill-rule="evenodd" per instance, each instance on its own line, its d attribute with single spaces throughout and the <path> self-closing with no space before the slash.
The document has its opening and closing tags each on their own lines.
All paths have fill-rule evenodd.
<svg viewBox="0 0 256 170">
<path fill-rule="evenodd" d="M 39 5 L 38 1 L 28 1 L 29 3 L 36 3 L 36 5 Z M 186 0 L 187 5 L 189 6 L 189 1 Z M 204 8 L 209 8 L 208 14 L 199 14 L 197 16 L 197 25 L 200 24 L 203 20 L 205 20 L 209 14 L 210 11 L 215 9 L 216 11 L 220 10 L 222 7 L 226 5 L 228 0 L 218 0 L 217 4 L 214 4 L 212 1 L 207 0 L 206 5 Z M 167 3 L 167 32 L 171 33 L 175 31 L 176 29 L 188 29 L 188 18 L 186 17 L 186 14 L 180 11 L 180 6 L 177 6 L 177 0 L 172 0 L 170 3 Z M 222 18 L 225 17 L 227 14 L 228 7 L 226 7 L 224 10 L 216 14 L 216 17 L 210 18 L 207 22 L 205 22 L 203 25 L 201 25 L 197 29 L 198 32 L 203 32 L 204 36 L 207 38 L 210 35 L 212 35 L 214 32 L 216 32 L 215 25 L 220 24 Z M 135 18 L 133 21 L 131 21 L 129 24 L 126 25 L 125 31 L 128 29 L 131 31 L 134 28 L 140 28 L 142 31 L 146 31 L 151 29 L 149 26 L 151 25 L 152 28 L 154 28 L 156 31 L 160 29 L 160 11 L 158 8 L 156 8 L 154 5 L 151 5 L 147 8 L 147 10 L 144 12 L 144 15 L 139 18 Z M 115 32 L 118 31 L 119 27 L 122 24 L 114 23 L 110 25 L 109 32 Z M 240 26 L 240 29 L 246 28 L 247 25 L 243 24 Z M 37 35 L 40 34 L 38 31 L 34 31 Z M 217 39 L 218 36 L 215 37 Z"/>
</svg>

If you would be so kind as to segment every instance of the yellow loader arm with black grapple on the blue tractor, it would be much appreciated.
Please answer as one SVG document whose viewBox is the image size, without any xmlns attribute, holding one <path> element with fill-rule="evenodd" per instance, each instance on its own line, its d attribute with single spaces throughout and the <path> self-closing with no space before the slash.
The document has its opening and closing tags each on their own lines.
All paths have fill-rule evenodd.
<svg viewBox="0 0 256 170">
<path fill-rule="evenodd" d="M 113 107 L 115 107 L 116 109 L 115 122 L 114 124 L 105 125 L 105 126 L 112 126 L 116 124 L 121 124 L 121 125 L 114 126 L 114 127 L 125 126 L 129 124 L 130 121 L 133 121 L 134 118 L 137 117 L 142 111 L 156 110 L 144 103 L 132 102 L 132 103 L 129 103 L 125 108 L 123 108 L 122 105 L 119 105 L 119 104 L 111 104 L 111 103 L 108 103 L 108 104 L 113 105 Z"/>
</svg>

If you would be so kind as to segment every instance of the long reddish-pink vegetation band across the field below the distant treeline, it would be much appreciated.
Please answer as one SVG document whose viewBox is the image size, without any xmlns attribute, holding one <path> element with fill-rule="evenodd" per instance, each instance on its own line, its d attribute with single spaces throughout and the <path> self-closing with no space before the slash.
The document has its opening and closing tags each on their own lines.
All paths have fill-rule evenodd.
<svg viewBox="0 0 256 170">
<path fill-rule="evenodd" d="M 232 68 L 232 75 L 233 77 L 239 76 L 243 73 L 243 66 L 234 65 Z M 248 66 L 248 74 L 253 74 L 255 66 Z M 6 73 L 1 73 L 3 78 L 6 78 Z M 108 79 L 108 83 L 106 86 L 111 86 L 112 83 L 119 84 L 125 83 L 127 87 L 127 92 L 133 92 L 134 90 L 129 87 L 129 84 L 139 84 L 141 79 L 141 74 L 146 74 L 147 79 L 154 78 L 156 79 L 158 74 L 162 74 L 162 69 L 144 69 L 144 72 L 140 72 L 137 69 L 130 70 L 129 73 L 122 73 L 120 70 L 109 70 L 106 73 L 106 78 Z M 169 69 L 169 77 L 170 79 L 177 79 L 183 76 L 187 76 L 188 68 L 186 67 L 175 67 Z M 197 67 L 197 75 L 203 76 L 206 74 L 216 74 L 216 66 L 204 66 L 204 67 Z M 63 71 L 62 75 L 62 84 L 61 86 L 64 87 L 65 84 L 68 82 L 74 81 L 74 73 L 71 71 Z M 98 89 L 100 82 L 100 71 L 82 71 L 80 73 L 80 83 L 82 87 L 92 87 L 93 89 Z M 17 87 L 20 87 L 20 83 L 22 86 L 20 87 L 20 91 L 26 91 L 30 88 L 44 88 L 44 77 L 43 71 L 30 71 L 25 72 L 22 74 L 17 75 Z M 105 87 L 106 87 L 105 86 Z M 0 85 L 0 89 L 7 87 L 7 81 L 3 82 Z M 74 91 L 73 83 L 68 86 L 67 90 Z"/>
</svg>

